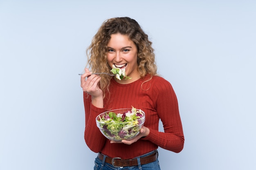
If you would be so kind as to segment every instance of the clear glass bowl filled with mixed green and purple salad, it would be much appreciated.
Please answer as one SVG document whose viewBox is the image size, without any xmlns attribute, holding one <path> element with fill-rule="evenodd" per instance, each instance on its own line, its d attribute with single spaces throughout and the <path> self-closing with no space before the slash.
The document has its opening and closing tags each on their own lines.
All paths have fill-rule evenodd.
<svg viewBox="0 0 256 170">
<path fill-rule="evenodd" d="M 96 117 L 97 127 L 106 138 L 112 141 L 135 138 L 139 135 L 144 122 L 144 111 L 134 107 L 109 110 Z"/>
</svg>

